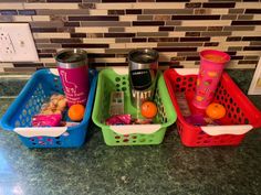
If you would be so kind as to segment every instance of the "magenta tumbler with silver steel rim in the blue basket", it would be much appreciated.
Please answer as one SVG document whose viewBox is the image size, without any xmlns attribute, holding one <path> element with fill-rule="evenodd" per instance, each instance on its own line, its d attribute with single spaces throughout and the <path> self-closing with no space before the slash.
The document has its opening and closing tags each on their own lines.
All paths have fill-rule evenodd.
<svg viewBox="0 0 261 195">
<path fill-rule="evenodd" d="M 84 50 L 63 50 L 55 56 L 67 105 L 86 105 L 88 96 L 87 53 Z"/>
</svg>

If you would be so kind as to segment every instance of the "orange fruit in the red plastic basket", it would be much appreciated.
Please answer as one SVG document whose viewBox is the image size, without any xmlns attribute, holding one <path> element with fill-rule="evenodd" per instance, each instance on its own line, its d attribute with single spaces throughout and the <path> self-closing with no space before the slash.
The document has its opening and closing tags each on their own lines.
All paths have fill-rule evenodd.
<svg viewBox="0 0 261 195">
<path fill-rule="evenodd" d="M 207 107 L 206 113 L 211 119 L 221 119 L 226 116 L 226 108 L 220 104 L 212 102 Z"/>
</svg>

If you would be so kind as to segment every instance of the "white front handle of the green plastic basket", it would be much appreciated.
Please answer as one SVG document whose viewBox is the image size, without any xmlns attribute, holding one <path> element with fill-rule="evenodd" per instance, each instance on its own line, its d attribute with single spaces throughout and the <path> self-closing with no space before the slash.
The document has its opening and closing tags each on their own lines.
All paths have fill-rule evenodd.
<svg viewBox="0 0 261 195">
<path fill-rule="evenodd" d="M 152 134 L 158 131 L 160 124 L 134 124 L 134 126 L 109 126 L 109 128 L 118 134 L 132 134 L 132 133 L 142 133 L 142 134 Z"/>
</svg>

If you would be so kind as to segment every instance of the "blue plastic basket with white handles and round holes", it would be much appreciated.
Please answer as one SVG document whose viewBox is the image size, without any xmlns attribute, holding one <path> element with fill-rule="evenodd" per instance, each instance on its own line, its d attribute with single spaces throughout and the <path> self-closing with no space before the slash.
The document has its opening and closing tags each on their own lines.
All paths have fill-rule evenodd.
<svg viewBox="0 0 261 195">
<path fill-rule="evenodd" d="M 97 72 L 90 69 L 90 94 L 82 122 L 74 127 L 31 127 L 32 116 L 54 93 L 63 94 L 56 69 L 35 72 L 0 120 L 4 130 L 15 131 L 28 148 L 77 148 L 86 137 L 97 83 Z"/>
</svg>

